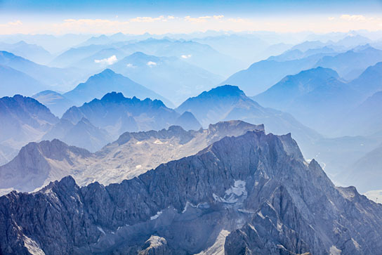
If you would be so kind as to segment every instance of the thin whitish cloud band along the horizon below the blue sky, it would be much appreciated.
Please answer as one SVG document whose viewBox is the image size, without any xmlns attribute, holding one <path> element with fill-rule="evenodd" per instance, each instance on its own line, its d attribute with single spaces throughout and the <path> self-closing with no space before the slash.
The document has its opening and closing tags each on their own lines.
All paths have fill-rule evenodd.
<svg viewBox="0 0 382 255">
<path fill-rule="evenodd" d="M 242 31 L 275 31 L 275 32 L 348 32 L 349 30 L 382 29 L 382 15 L 350 15 L 343 13 L 333 16 L 277 16 L 277 17 L 227 17 L 225 15 L 204 15 L 177 17 L 175 15 L 159 15 L 157 17 L 138 16 L 135 18 L 119 18 L 114 20 L 73 19 L 62 22 L 36 22 L 34 20 L 11 20 L 0 24 L 0 34 L 152 34 L 205 32 L 207 30 Z"/>
</svg>

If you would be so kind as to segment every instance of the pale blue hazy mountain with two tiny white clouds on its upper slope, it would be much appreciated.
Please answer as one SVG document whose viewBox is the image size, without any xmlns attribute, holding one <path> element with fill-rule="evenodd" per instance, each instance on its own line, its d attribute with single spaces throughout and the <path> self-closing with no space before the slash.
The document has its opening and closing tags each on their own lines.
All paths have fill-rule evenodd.
<svg viewBox="0 0 382 255">
<path fill-rule="evenodd" d="M 216 74 L 177 57 L 156 57 L 136 52 L 110 65 L 114 72 L 161 93 L 176 105 L 223 80 Z"/>
</svg>

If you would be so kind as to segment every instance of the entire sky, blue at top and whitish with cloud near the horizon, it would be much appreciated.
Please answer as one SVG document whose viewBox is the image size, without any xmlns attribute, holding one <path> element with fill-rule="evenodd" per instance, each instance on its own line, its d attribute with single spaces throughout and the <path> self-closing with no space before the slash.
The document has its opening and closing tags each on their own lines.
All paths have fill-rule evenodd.
<svg viewBox="0 0 382 255">
<path fill-rule="evenodd" d="M 382 30 L 382 0 L 0 0 L 0 34 Z"/>
</svg>

